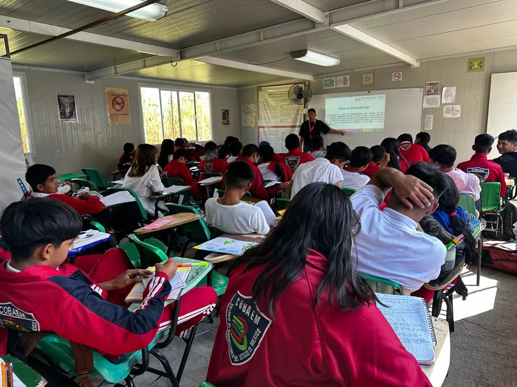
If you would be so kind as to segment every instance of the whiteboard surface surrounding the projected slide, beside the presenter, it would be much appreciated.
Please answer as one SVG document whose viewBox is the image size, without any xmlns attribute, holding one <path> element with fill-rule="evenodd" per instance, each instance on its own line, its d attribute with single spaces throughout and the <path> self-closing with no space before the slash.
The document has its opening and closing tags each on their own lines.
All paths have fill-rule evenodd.
<svg viewBox="0 0 517 387">
<path fill-rule="evenodd" d="M 381 143 L 386 137 L 397 138 L 402 133 L 415 135 L 420 132 L 422 122 L 423 88 L 391 89 L 374 91 L 355 91 L 350 93 L 331 93 L 313 95 L 309 108 L 316 110 L 316 119 L 325 121 L 325 99 L 356 95 L 386 94 L 384 131 L 382 132 L 346 132 L 345 136 L 327 134 L 323 136 L 325 145 L 334 141 L 345 142 L 350 149 L 358 146 L 372 147 Z"/>
</svg>

